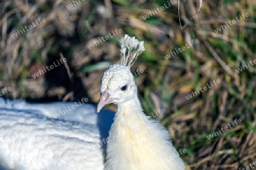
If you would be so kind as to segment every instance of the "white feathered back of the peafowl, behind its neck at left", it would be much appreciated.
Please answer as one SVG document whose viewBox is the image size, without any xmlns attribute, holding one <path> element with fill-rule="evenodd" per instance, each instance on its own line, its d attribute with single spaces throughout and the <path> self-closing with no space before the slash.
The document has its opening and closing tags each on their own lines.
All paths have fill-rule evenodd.
<svg viewBox="0 0 256 170">
<path fill-rule="evenodd" d="M 0 98 L 0 167 L 18 170 L 102 170 L 102 145 L 114 113 L 90 104 L 30 104 Z M 0 168 L 0 169 L 1 169 Z"/>
</svg>

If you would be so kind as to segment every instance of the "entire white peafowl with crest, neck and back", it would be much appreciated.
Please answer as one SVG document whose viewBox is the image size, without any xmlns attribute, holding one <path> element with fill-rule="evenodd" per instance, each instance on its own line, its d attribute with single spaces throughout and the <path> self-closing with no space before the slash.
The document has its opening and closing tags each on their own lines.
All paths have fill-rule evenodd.
<svg viewBox="0 0 256 170">
<path fill-rule="evenodd" d="M 137 96 L 130 66 L 143 52 L 143 41 L 126 35 L 120 42 L 121 64 L 102 76 L 97 106 L 100 112 L 104 105 L 116 104 L 115 117 L 106 110 L 97 115 L 96 107 L 84 104 L 56 118 L 74 103 L 0 98 L 0 169 L 185 169 L 168 131 L 145 116 Z M 103 143 L 108 143 L 105 165 Z"/>
</svg>

